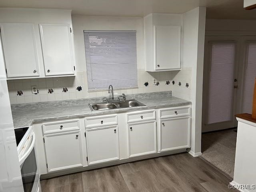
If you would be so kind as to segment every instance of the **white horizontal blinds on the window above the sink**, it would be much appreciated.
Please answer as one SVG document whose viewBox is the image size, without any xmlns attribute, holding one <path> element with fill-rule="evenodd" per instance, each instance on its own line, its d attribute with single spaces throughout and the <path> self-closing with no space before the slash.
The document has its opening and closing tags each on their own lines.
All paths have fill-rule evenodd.
<svg viewBox="0 0 256 192">
<path fill-rule="evenodd" d="M 88 91 L 138 87 L 136 31 L 84 30 Z"/>
</svg>

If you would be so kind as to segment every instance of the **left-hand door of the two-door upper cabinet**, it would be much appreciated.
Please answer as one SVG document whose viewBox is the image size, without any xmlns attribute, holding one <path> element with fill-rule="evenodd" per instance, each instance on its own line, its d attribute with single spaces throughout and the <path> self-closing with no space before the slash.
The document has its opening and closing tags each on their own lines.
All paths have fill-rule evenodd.
<svg viewBox="0 0 256 192">
<path fill-rule="evenodd" d="M 34 24 L 2 23 L 0 26 L 8 78 L 39 76 Z"/>
</svg>

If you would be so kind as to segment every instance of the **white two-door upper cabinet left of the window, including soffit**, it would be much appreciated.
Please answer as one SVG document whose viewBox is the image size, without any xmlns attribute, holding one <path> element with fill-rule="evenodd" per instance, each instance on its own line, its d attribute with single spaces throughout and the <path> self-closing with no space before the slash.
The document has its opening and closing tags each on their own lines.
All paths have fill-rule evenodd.
<svg viewBox="0 0 256 192">
<path fill-rule="evenodd" d="M 70 10 L 0 8 L 8 79 L 74 76 Z"/>
</svg>

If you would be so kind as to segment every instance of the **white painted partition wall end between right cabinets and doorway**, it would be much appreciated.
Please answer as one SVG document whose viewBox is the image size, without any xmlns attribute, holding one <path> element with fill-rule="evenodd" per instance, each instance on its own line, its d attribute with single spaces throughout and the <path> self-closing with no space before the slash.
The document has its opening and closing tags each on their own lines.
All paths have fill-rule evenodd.
<svg viewBox="0 0 256 192">
<path fill-rule="evenodd" d="M 193 156 L 201 155 L 202 132 L 202 81 L 204 60 L 204 32 L 206 8 L 198 7 L 183 14 L 182 67 L 191 72 L 191 150 Z M 176 92 L 173 91 L 173 95 Z"/>
</svg>

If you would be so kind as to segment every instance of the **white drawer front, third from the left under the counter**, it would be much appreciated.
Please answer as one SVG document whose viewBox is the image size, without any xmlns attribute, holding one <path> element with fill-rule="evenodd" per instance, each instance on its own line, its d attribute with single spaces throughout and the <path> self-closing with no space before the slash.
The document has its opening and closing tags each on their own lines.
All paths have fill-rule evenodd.
<svg viewBox="0 0 256 192">
<path fill-rule="evenodd" d="M 156 119 L 155 110 L 141 111 L 127 114 L 127 122 Z"/>
</svg>

